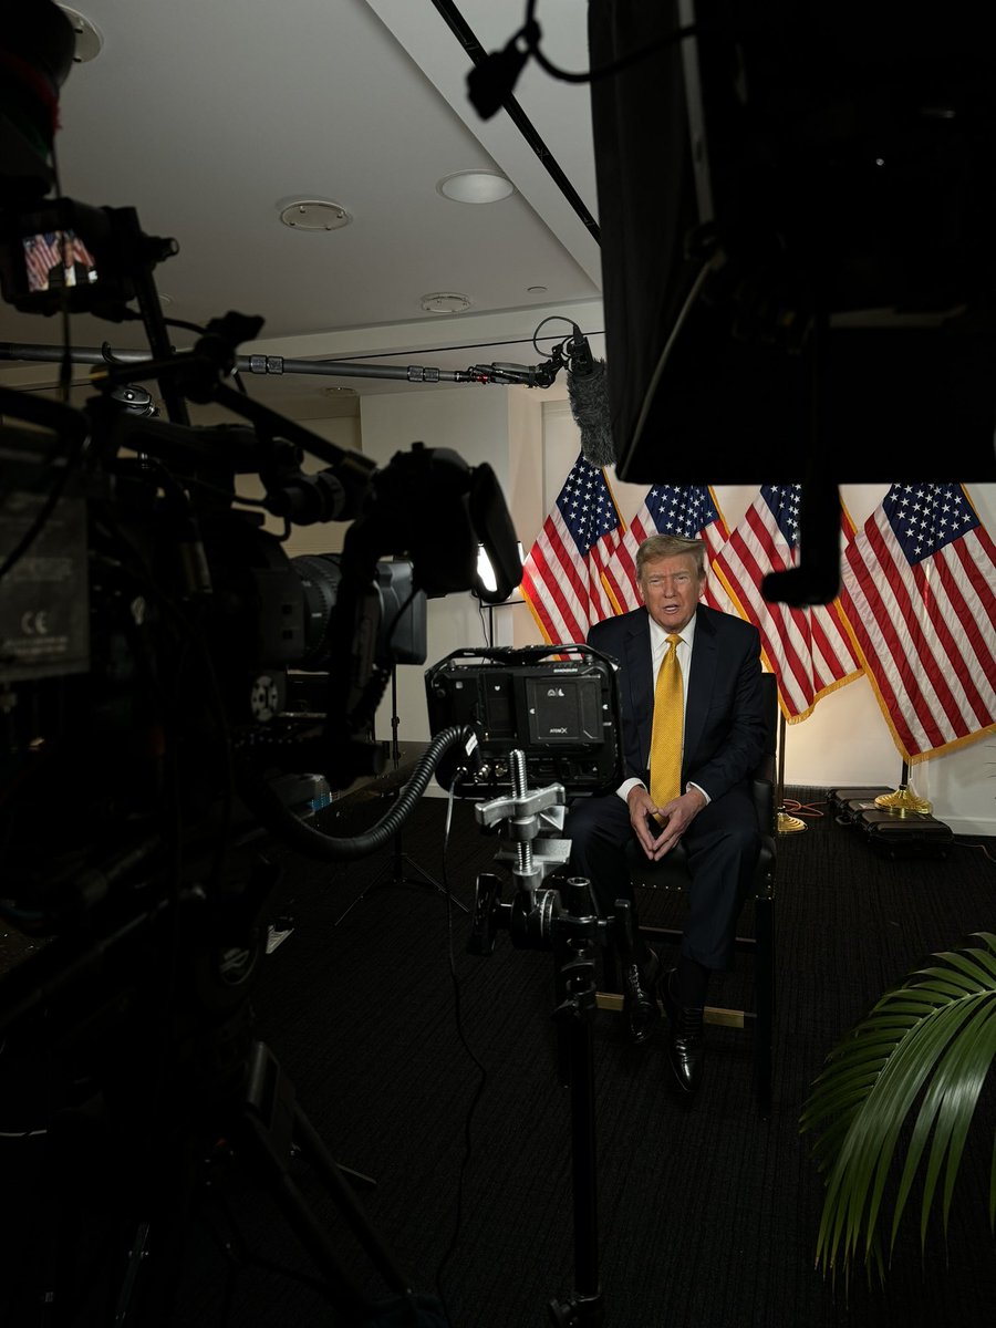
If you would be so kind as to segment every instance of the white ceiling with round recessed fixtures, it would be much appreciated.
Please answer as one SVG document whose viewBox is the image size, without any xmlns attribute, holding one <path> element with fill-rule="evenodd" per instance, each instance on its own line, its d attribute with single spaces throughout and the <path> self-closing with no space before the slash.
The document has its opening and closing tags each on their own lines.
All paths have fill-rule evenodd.
<svg viewBox="0 0 996 1328">
<path fill-rule="evenodd" d="M 563 315 L 602 329 L 596 235 L 510 117 L 470 105 L 471 61 L 432 0 L 82 0 L 98 39 L 61 90 L 61 191 L 92 206 L 134 207 L 142 230 L 173 236 L 155 270 L 169 317 L 203 325 L 230 309 L 264 319 L 239 353 L 359 360 L 406 369 L 534 364 L 539 321 Z M 486 50 L 525 21 L 525 0 L 458 0 Z M 543 53 L 588 64 L 587 4 L 540 0 Z M 515 89 L 574 190 L 598 216 L 588 89 L 535 61 Z M 437 182 L 499 170 L 515 193 L 471 206 Z M 292 199 L 332 201 L 349 226 L 305 232 L 279 220 Z M 456 317 L 422 296 L 459 292 Z M 540 335 L 562 339 L 566 323 Z M 177 348 L 194 333 L 171 332 Z M 73 345 L 145 349 L 141 324 L 77 317 Z M 60 341 L 56 319 L 0 304 L 0 343 Z M 595 341 L 598 351 L 599 343 Z M 548 347 L 548 341 L 546 343 Z M 25 357 L 29 360 L 29 357 Z M 0 381 L 52 382 L 53 365 L 0 367 Z M 89 369 L 76 369 L 86 380 Z M 404 380 L 246 376 L 254 396 L 297 418 L 348 413 L 355 393 Z M 149 384 L 155 396 L 155 384 Z M 438 390 L 425 386 L 426 392 Z M 479 390 L 467 386 L 466 390 Z M 331 396 L 336 400 L 331 400 Z"/>
</svg>

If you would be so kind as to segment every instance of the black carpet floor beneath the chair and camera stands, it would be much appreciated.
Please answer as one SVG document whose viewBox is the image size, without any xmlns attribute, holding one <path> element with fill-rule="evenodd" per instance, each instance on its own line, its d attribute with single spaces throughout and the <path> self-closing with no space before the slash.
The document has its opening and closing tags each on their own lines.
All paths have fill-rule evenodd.
<svg viewBox="0 0 996 1328">
<path fill-rule="evenodd" d="M 466 950 L 475 883 L 495 870 L 495 839 L 471 805 L 457 803 L 448 826 L 446 803 L 422 799 L 401 842 L 353 863 L 267 850 L 284 869 L 271 908 L 287 936 L 255 991 L 256 1033 L 328 1153 L 359 1173 L 376 1247 L 416 1291 L 441 1299 L 442 1323 L 531 1328 L 556 1321 L 551 1301 L 563 1323 L 606 1328 L 992 1321 L 992 1127 L 963 1163 L 947 1243 L 931 1231 L 922 1258 L 911 1227 L 886 1287 L 859 1276 L 845 1295 L 814 1267 L 822 1182 L 798 1121 L 823 1057 L 883 989 L 992 927 L 996 842 L 956 839 L 943 861 L 892 861 L 838 823 L 826 790 L 788 791 L 805 830 L 778 842 L 772 1112 L 757 1109 L 749 1028 L 709 1027 L 705 1082 L 689 1109 L 669 1092 L 663 1036 L 629 1046 L 602 1009 L 587 1025 L 594 1194 L 572 1153 L 583 1094 L 572 1097 L 560 1073 L 542 928 L 499 930 L 490 955 Z M 355 834 L 382 810 L 376 799 L 352 815 L 331 809 L 323 829 Z M 745 956 L 709 999 L 749 1004 L 752 983 Z M 992 1084 L 987 1092 L 992 1121 Z M 191 1215 L 175 1323 L 348 1323 L 309 1283 L 263 1166 L 251 1154 L 243 1163 Z M 349 1279 L 388 1297 L 343 1204 L 307 1159 L 293 1166 Z M 16 1202 L 4 1201 L 8 1212 Z M 7 1276 L 9 1286 L 16 1270 Z M 572 1319 L 564 1307 L 576 1293 Z M 11 1304 L 20 1317 L 12 1309 L 0 1321 L 48 1323 L 23 1297 Z"/>
</svg>

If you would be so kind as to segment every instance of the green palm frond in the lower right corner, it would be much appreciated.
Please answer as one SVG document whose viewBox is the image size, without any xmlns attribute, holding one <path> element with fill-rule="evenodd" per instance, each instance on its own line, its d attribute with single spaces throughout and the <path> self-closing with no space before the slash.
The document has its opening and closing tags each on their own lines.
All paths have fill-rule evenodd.
<svg viewBox="0 0 996 1328">
<path fill-rule="evenodd" d="M 918 1177 L 920 1248 L 938 1202 L 947 1239 L 965 1141 L 996 1060 L 996 935 L 975 932 L 931 959 L 834 1046 L 803 1104 L 799 1129 L 814 1135 L 826 1187 L 817 1235 L 825 1276 L 839 1268 L 849 1276 L 863 1263 L 884 1278 L 886 1251 L 891 1256 Z M 988 1215 L 996 1231 L 996 1139 Z"/>
</svg>

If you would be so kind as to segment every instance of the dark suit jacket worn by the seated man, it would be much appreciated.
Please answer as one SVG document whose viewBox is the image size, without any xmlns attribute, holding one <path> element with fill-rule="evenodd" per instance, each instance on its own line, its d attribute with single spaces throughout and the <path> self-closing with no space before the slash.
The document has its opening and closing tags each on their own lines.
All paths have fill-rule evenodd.
<svg viewBox="0 0 996 1328">
<path fill-rule="evenodd" d="M 627 777 L 647 780 L 653 722 L 651 620 L 645 608 L 608 618 L 588 645 L 619 661 L 619 709 Z M 685 706 L 681 788 L 691 780 L 720 798 L 761 758 L 761 636 L 753 623 L 699 604 Z"/>
</svg>

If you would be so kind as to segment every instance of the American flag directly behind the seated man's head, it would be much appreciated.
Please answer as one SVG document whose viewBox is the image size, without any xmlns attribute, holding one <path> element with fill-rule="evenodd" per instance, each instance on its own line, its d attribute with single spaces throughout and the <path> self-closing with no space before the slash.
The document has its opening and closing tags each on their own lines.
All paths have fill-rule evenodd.
<svg viewBox="0 0 996 1328">
<path fill-rule="evenodd" d="M 648 535 L 701 539 L 712 564 L 729 530 L 706 485 L 652 485 L 606 567 L 608 592 L 620 614 L 643 603 L 636 584 L 636 550 Z M 706 579 L 703 600 L 726 614 L 737 612 L 726 587 L 714 576 Z"/>
</svg>

